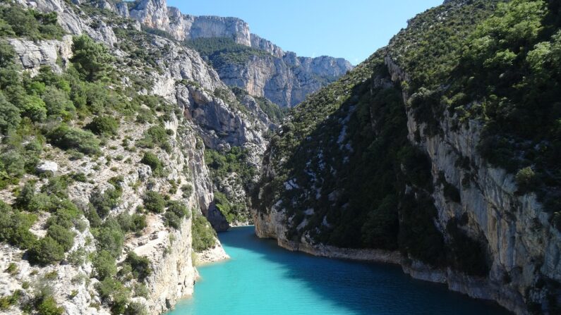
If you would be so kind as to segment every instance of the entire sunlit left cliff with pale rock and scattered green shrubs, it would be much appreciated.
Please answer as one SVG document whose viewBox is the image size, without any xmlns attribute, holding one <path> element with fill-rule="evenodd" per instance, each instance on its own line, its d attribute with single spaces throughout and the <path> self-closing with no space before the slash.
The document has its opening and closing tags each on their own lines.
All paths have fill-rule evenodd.
<svg viewBox="0 0 561 315">
<path fill-rule="evenodd" d="M 255 168 L 274 124 L 121 3 L 16 3 L 0 6 L 1 311 L 161 314 L 195 261 L 227 257 L 205 151 Z"/>
</svg>

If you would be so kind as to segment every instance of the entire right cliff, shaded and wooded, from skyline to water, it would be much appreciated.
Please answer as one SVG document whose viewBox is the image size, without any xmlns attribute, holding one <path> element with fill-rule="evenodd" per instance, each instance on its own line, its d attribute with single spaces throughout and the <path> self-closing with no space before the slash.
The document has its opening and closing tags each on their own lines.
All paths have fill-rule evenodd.
<svg viewBox="0 0 561 315">
<path fill-rule="evenodd" d="M 497 2 L 420 14 L 298 106 L 265 152 L 258 235 L 557 314 L 559 6 Z"/>
</svg>

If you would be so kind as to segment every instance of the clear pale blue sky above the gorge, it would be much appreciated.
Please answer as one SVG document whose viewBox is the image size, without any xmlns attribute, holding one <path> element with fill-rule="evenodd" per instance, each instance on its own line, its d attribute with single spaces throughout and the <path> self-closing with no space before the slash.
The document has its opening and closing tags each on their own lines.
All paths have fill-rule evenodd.
<svg viewBox="0 0 561 315">
<path fill-rule="evenodd" d="M 167 0 L 194 16 L 233 16 L 253 34 L 298 56 L 368 58 L 406 27 L 407 20 L 443 0 Z"/>
</svg>

